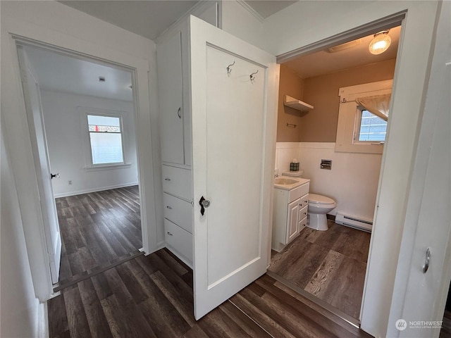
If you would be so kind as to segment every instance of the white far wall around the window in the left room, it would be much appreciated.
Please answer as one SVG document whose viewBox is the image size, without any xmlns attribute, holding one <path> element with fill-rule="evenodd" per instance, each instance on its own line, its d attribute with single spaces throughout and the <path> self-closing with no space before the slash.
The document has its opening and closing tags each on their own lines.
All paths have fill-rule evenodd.
<svg viewBox="0 0 451 338">
<path fill-rule="evenodd" d="M 49 149 L 52 173 L 59 173 L 52 184 L 56 197 L 96 192 L 114 187 L 137 184 L 137 158 L 135 120 L 133 104 L 128 101 L 105 99 L 101 97 L 68 94 L 41 89 L 42 108 L 44 111 L 45 131 Z M 77 108 L 97 108 L 111 111 L 123 111 L 124 149 L 128 155 L 127 167 L 89 169 L 85 168 L 87 133 L 82 130 L 83 112 Z M 68 181 L 72 181 L 72 185 Z"/>
</svg>

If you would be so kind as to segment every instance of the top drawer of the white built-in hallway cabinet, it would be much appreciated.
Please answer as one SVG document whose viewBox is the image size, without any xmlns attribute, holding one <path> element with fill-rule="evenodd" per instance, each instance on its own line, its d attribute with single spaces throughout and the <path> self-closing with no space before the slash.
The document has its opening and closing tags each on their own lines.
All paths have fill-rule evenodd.
<svg viewBox="0 0 451 338">
<path fill-rule="evenodd" d="M 163 192 L 192 201 L 191 170 L 162 165 Z"/>
</svg>

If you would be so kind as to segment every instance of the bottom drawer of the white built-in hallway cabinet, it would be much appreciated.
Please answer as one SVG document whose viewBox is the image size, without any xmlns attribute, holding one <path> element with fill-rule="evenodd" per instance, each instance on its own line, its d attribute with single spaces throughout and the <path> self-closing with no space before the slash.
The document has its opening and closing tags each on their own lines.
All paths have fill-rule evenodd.
<svg viewBox="0 0 451 338">
<path fill-rule="evenodd" d="M 164 220 L 164 238 L 166 243 L 178 256 L 192 263 L 192 234 L 175 225 L 170 220 Z"/>
</svg>

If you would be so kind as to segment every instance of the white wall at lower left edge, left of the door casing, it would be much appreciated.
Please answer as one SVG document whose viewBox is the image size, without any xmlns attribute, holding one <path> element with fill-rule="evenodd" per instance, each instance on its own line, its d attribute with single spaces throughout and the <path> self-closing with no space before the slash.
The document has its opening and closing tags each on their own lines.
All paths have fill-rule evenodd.
<svg viewBox="0 0 451 338">
<path fill-rule="evenodd" d="M 38 337 L 39 301 L 33 292 L 30 263 L 14 177 L 1 133 L 1 337 Z"/>
</svg>

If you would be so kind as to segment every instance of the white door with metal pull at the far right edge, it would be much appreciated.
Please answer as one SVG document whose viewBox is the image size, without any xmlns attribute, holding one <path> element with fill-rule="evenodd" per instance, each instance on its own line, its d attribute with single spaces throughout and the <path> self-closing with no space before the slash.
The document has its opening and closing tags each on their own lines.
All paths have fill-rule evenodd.
<svg viewBox="0 0 451 338">
<path fill-rule="evenodd" d="M 402 310 L 390 313 L 390 337 L 438 337 L 451 278 L 451 3 L 443 2 L 419 136 L 411 196 L 420 202 L 414 237 L 403 239 L 407 265 Z M 418 207 L 416 207 L 418 209 Z M 412 244 L 410 244 L 412 242 Z M 406 249 L 407 248 L 407 249 Z M 412 248 L 412 249 L 408 249 Z M 428 252 L 428 253 L 427 253 Z M 410 261 L 402 259 L 409 256 Z M 426 263 L 427 257 L 428 263 Z M 426 265 L 428 268 L 426 270 Z M 398 269 L 399 270 L 399 269 Z M 404 278 L 397 274 L 397 280 Z M 398 296 L 399 297 L 399 296 Z M 393 304 L 393 303 L 392 303 Z M 392 305 L 393 307 L 393 305 Z M 422 322 L 422 323 L 421 323 Z M 434 323 L 435 322 L 435 323 Z"/>
</svg>

